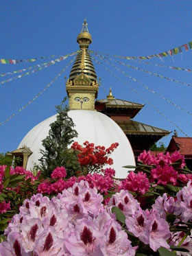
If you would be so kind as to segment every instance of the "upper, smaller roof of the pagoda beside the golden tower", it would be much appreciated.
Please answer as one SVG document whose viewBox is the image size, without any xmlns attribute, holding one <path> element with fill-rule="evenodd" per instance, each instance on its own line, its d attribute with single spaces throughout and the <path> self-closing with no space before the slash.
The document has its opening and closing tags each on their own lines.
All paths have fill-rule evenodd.
<svg viewBox="0 0 192 256">
<path fill-rule="evenodd" d="M 143 104 L 128 102 L 127 100 L 119 100 L 119 99 L 103 99 L 97 100 L 98 103 L 103 103 L 106 105 L 106 108 L 143 108 Z"/>
</svg>

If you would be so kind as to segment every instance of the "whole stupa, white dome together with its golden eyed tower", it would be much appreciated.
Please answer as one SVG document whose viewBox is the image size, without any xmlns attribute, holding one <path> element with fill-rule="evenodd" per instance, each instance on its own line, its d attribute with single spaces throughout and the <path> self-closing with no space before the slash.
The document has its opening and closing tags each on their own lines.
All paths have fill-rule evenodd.
<svg viewBox="0 0 192 256">
<path fill-rule="evenodd" d="M 77 43 L 80 45 L 80 51 L 66 83 L 69 97 L 68 115 L 73 119 L 75 130 L 78 132 L 75 141 L 81 144 L 89 141 L 95 143 L 95 146 L 106 147 L 118 142 L 119 147 L 111 154 L 114 161 L 111 167 L 116 170 L 116 178 L 125 178 L 128 170 L 123 168 L 123 165 L 135 165 L 134 153 L 128 138 L 118 124 L 104 113 L 95 110 L 99 84 L 91 56 L 88 53 L 92 38 L 88 32 L 86 20 L 82 31 L 77 36 Z M 49 125 L 55 120 L 56 115 L 53 115 L 37 124 L 19 144 L 18 150 L 24 146 L 30 150 L 27 161 L 25 158 L 24 167 L 27 170 L 32 170 L 34 163 L 38 164 L 38 159 L 41 157 L 40 149 L 43 149 L 42 140 L 47 137 Z"/>
</svg>

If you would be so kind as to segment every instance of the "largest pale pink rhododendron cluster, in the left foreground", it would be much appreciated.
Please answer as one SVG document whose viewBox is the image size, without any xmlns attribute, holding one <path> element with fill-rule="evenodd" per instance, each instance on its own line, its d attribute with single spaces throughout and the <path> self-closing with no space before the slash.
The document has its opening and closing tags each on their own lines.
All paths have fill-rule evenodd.
<svg viewBox="0 0 192 256">
<path fill-rule="evenodd" d="M 101 204 L 103 197 L 86 181 L 74 183 L 49 200 L 25 200 L 5 230 L 3 256 L 134 256 L 128 235 Z"/>
</svg>

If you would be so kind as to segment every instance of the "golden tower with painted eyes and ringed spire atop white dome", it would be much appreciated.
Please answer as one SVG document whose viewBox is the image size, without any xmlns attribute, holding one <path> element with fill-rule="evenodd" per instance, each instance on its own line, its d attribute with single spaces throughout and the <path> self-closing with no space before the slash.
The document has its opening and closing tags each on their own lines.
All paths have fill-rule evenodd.
<svg viewBox="0 0 192 256">
<path fill-rule="evenodd" d="M 69 109 L 95 110 L 99 84 L 91 56 L 88 53 L 88 45 L 92 43 L 92 38 L 88 32 L 86 19 L 82 31 L 77 36 L 77 43 L 80 45 L 80 51 L 66 83 Z"/>
</svg>

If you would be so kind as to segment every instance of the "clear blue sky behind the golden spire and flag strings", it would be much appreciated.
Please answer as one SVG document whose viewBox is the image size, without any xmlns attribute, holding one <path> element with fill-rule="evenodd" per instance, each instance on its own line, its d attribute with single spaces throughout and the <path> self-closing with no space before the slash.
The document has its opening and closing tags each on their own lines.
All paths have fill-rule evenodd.
<svg viewBox="0 0 192 256">
<path fill-rule="evenodd" d="M 76 37 L 82 29 L 85 17 L 93 37 L 90 49 L 101 53 L 147 56 L 173 49 L 192 40 L 191 0 L 0 0 L 0 9 L 0 58 L 26 59 L 70 54 L 78 49 Z M 192 69 L 191 57 L 192 50 L 186 52 L 183 49 L 182 54 L 173 58 L 154 58 L 149 62 Z M 50 60 L 38 59 L 33 63 L 23 62 L 17 65 L 0 64 L 0 73 L 26 69 Z M 0 123 L 42 91 L 69 60 L 71 58 L 23 78 L 0 84 Z M 116 60 L 192 84 L 192 72 L 140 64 L 133 60 Z M 105 88 L 99 89 L 99 99 L 106 97 L 105 91 L 108 92 L 111 86 L 117 99 L 145 104 L 136 116 L 136 121 L 170 131 L 176 129 L 181 137 L 184 136 L 180 131 L 182 130 L 192 137 L 191 86 L 157 78 L 114 62 L 121 71 L 145 84 L 144 88 L 106 63 L 93 63 L 97 77 L 101 78 L 101 84 Z M 108 73 L 105 66 L 125 83 Z M 64 76 L 69 77 L 70 70 L 71 67 L 32 104 L 0 126 L 0 152 L 15 150 L 31 128 L 56 113 L 55 106 L 60 104 L 66 95 Z M 1 77 L 0 82 L 13 76 L 15 75 Z M 156 93 L 150 93 L 146 86 Z M 174 104 L 169 104 L 163 97 Z M 154 106 L 168 120 L 159 115 Z M 171 135 L 163 141 L 167 144 L 170 139 Z"/>
</svg>

